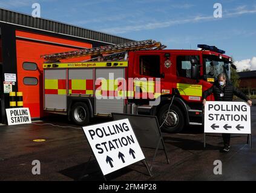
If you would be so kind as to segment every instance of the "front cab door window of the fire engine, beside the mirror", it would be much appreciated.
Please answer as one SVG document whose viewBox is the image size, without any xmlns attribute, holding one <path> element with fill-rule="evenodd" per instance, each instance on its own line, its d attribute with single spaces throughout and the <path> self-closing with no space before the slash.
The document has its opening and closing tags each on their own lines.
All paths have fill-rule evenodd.
<svg viewBox="0 0 256 193">
<path fill-rule="evenodd" d="M 199 55 L 179 55 L 177 56 L 177 75 L 179 77 L 191 78 L 191 59 L 199 63 Z"/>
</svg>

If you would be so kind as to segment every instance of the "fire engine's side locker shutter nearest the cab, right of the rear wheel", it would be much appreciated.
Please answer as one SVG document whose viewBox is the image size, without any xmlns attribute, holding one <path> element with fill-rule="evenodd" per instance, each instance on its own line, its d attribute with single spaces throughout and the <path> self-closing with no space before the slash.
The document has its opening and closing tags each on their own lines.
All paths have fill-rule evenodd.
<svg viewBox="0 0 256 193">
<path fill-rule="evenodd" d="M 125 68 L 96 68 L 96 79 L 102 78 L 105 83 L 102 81 L 100 92 L 102 97 L 105 96 L 105 98 L 96 96 L 96 114 L 123 113 L 125 100 L 124 98 L 117 98 L 119 92 L 115 91 L 119 86 L 117 78 L 125 78 Z M 124 90 L 124 87 L 122 90 Z"/>
</svg>

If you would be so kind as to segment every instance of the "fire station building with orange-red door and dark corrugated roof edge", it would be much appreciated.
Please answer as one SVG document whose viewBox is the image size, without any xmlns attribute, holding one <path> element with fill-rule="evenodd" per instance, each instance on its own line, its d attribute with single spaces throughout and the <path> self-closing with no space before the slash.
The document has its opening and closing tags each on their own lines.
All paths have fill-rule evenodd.
<svg viewBox="0 0 256 193">
<path fill-rule="evenodd" d="M 43 116 L 41 55 L 131 41 L 0 8 L 0 122 L 5 123 L 10 91 L 23 92 L 24 107 L 33 109 L 31 118 Z"/>
</svg>

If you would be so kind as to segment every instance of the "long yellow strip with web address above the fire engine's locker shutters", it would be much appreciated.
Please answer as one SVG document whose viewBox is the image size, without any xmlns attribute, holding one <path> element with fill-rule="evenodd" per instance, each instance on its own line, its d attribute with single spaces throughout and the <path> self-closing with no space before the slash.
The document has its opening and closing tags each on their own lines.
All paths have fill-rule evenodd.
<svg viewBox="0 0 256 193">
<path fill-rule="evenodd" d="M 43 68 L 114 68 L 127 67 L 127 61 L 120 62 L 79 62 L 79 63 L 44 63 Z"/>
</svg>

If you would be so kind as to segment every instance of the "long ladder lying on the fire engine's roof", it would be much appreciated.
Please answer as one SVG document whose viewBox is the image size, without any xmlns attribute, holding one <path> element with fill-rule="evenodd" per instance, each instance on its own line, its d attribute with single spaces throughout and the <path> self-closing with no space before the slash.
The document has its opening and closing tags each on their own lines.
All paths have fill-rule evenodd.
<svg viewBox="0 0 256 193">
<path fill-rule="evenodd" d="M 75 57 L 84 56 L 98 56 L 102 54 L 115 54 L 118 52 L 138 51 L 138 50 L 151 50 L 151 49 L 164 49 L 165 45 L 154 40 L 143 40 L 137 42 L 120 43 L 116 45 L 100 46 L 96 48 L 85 48 L 76 51 L 60 52 L 56 54 L 41 55 L 45 62 L 58 62 L 63 59 L 71 59 Z"/>
</svg>

